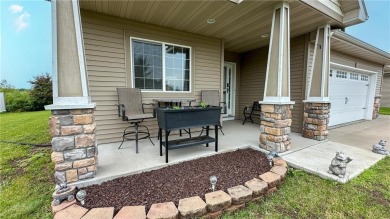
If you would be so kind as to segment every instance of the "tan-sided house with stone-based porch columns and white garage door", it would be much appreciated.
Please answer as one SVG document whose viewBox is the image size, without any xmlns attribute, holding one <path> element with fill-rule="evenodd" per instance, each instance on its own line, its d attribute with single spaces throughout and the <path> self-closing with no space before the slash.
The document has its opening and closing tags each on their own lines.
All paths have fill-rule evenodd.
<svg viewBox="0 0 390 219">
<path fill-rule="evenodd" d="M 329 125 L 376 118 L 390 54 L 342 31 L 368 18 L 363 0 L 51 4 L 58 181 L 94 177 L 97 142 L 121 141 L 117 87 L 145 102 L 219 90 L 234 119 L 260 101 L 260 147 L 278 152 L 290 132 L 324 140 Z"/>
</svg>

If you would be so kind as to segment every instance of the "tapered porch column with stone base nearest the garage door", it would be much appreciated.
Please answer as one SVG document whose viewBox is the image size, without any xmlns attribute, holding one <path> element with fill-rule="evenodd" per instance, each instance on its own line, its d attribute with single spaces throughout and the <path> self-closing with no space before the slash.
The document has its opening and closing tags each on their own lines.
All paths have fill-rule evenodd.
<svg viewBox="0 0 390 219">
<path fill-rule="evenodd" d="M 330 113 L 330 26 L 328 24 L 317 28 L 313 50 L 313 61 L 307 72 L 303 136 L 321 141 L 328 136 Z"/>
</svg>

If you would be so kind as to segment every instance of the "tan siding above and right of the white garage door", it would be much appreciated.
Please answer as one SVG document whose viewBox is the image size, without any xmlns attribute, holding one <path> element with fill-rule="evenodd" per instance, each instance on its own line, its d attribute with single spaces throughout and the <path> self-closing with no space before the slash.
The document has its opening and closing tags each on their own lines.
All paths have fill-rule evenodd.
<svg viewBox="0 0 390 219">
<path fill-rule="evenodd" d="M 377 74 L 375 95 L 380 95 L 382 75 L 383 75 L 383 65 L 369 62 L 367 60 L 363 60 L 351 55 L 343 54 L 334 50 L 331 51 L 330 61 L 337 64 L 346 65 L 349 67 L 377 72 L 378 74 Z"/>
</svg>

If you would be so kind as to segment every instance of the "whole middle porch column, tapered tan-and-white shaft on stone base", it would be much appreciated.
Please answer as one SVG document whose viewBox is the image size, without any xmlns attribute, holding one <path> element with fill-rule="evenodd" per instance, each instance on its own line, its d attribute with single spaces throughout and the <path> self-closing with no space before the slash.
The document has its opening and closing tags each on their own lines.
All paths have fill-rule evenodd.
<svg viewBox="0 0 390 219">
<path fill-rule="evenodd" d="M 290 8 L 275 6 L 268 51 L 264 98 L 261 104 L 260 147 L 284 152 L 290 149 Z"/>
</svg>

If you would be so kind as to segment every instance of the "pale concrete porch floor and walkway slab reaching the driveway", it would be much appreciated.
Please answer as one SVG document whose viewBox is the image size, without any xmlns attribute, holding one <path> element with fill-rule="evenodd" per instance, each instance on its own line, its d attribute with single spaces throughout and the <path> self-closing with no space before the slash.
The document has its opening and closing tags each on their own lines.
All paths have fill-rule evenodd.
<svg viewBox="0 0 390 219">
<path fill-rule="evenodd" d="M 229 152 L 243 148 L 259 148 L 259 125 L 233 120 L 223 123 L 225 135 L 219 132 L 218 153 Z M 211 131 L 213 136 L 214 130 Z M 373 144 L 380 139 L 390 142 L 390 116 L 380 116 L 376 120 L 364 121 L 351 124 L 329 131 L 329 140 L 315 141 L 303 138 L 299 133 L 291 133 L 291 150 L 280 155 L 292 167 L 303 169 L 316 174 L 322 178 L 346 182 L 360 174 L 371 165 L 378 162 L 384 156 L 371 152 Z M 194 136 L 199 132 L 193 133 Z M 183 133 L 182 138 L 188 137 Z M 172 135 L 170 139 L 179 138 L 179 135 Z M 135 142 L 127 141 L 121 149 L 117 149 L 120 142 L 102 144 L 98 146 L 98 172 L 95 178 L 78 183 L 80 187 L 92 184 L 99 184 L 104 181 L 115 179 L 153 169 L 159 169 L 183 161 L 216 154 L 214 144 L 205 146 L 194 146 L 169 151 L 169 163 L 165 163 L 165 150 L 163 156 L 159 155 L 159 141 L 152 138 L 156 146 L 153 146 L 148 139 L 139 142 L 139 153 L 135 153 Z M 347 174 L 344 179 L 328 174 L 328 167 L 337 151 L 343 151 L 353 161 L 348 164 Z"/>
</svg>

